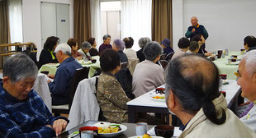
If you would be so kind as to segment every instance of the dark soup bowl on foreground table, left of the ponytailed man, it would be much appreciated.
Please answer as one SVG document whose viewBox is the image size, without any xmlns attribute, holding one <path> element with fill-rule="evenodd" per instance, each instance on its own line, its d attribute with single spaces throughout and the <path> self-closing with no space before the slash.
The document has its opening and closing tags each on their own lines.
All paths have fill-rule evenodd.
<svg viewBox="0 0 256 138">
<path fill-rule="evenodd" d="M 164 136 L 169 138 L 173 136 L 174 127 L 169 125 L 157 125 L 154 127 L 154 132 L 156 136 Z"/>
</svg>

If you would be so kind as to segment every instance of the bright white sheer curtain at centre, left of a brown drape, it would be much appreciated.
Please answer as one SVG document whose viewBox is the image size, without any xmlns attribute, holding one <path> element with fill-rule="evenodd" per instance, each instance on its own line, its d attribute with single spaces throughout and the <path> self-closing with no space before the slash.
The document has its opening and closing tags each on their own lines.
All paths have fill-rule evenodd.
<svg viewBox="0 0 256 138">
<path fill-rule="evenodd" d="M 121 38 L 132 37 L 135 50 L 141 37 L 151 39 L 151 7 L 151 0 L 121 0 Z"/>
</svg>

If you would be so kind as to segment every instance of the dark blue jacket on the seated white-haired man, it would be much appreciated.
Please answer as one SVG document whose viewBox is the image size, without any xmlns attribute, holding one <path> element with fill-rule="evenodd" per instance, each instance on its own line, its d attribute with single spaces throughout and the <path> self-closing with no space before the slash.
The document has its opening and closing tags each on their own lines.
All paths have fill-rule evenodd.
<svg viewBox="0 0 256 138">
<path fill-rule="evenodd" d="M 73 57 L 68 57 L 59 65 L 55 74 L 55 80 L 50 82 L 49 89 L 53 105 L 69 103 L 69 85 L 76 69 L 83 68 Z"/>
</svg>

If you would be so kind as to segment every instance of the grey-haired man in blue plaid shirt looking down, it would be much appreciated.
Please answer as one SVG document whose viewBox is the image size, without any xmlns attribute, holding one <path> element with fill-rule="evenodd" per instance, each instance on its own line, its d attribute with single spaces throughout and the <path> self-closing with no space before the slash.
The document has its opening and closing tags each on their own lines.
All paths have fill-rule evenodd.
<svg viewBox="0 0 256 138">
<path fill-rule="evenodd" d="M 69 120 L 53 117 L 36 91 L 31 90 L 37 76 L 35 62 L 18 53 L 7 59 L 0 83 L 1 137 L 54 137 Z"/>
</svg>

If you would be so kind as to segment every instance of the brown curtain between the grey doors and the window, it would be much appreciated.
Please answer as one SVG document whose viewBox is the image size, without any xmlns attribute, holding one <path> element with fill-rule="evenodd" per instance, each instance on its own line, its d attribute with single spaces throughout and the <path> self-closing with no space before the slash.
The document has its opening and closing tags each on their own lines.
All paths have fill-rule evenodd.
<svg viewBox="0 0 256 138">
<path fill-rule="evenodd" d="M 83 41 L 92 37 L 90 0 L 73 1 L 74 39 L 80 48 Z"/>
</svg>

